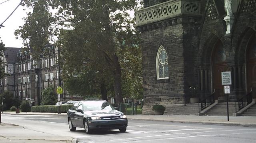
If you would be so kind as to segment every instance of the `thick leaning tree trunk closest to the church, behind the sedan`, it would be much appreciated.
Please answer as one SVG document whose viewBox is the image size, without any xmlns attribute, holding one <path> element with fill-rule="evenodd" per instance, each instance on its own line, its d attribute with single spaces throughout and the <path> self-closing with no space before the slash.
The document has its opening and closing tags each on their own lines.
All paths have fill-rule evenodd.
<svg viewBox="0 0 256 143">
<path fill-rule="evenodd" d="M 114 91 L 115 91 L 115 97 L 116 97 L 116 104 L 120 105 L 121 103 L 124 103 L 123 97 L 122 97 L 122 88 L 121 88 L 121 67 L 120 63 L 118 61 L 118 57 L 116 54 L 113 55 L 113 63 L 114 63 Z"/>
</svg>

